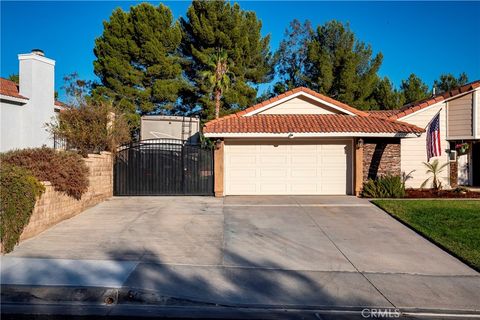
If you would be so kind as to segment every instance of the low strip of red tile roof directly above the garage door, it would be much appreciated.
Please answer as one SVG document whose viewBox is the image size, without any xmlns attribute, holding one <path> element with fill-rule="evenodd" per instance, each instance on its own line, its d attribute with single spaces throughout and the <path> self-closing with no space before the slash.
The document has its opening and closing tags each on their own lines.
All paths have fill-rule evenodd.
<svg viewBox="0 0 480 320">
<path fill-rule="evenodd" d="M 414 125 L 378 117 L 342 114 L 258 114 L 210 121 L 204 133 L 422 133 Z"/>
</svg>

